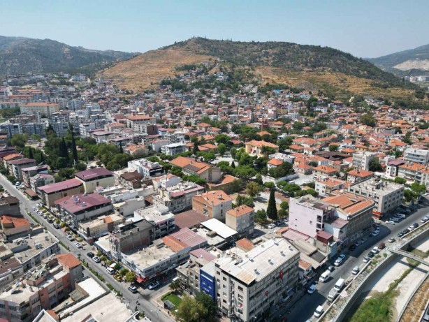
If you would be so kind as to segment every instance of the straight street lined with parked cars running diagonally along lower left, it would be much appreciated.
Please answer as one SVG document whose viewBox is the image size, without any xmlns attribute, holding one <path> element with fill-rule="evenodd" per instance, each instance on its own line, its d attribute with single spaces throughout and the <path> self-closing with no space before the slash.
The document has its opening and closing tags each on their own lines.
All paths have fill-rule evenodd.
<svg viewBox="0 0 429 322">
<path fill-rule="evenodd" d="M 11 184 L 3 175 L 0 175 L 0 184 L 10 193 L 10 195 L 15 196 L 20 200 L 21 212 L 24 214 L 24 216 L 27 217 L 27 219 L 29 219 L 29 221 L 31 221 L 31 223 L 36 224 L 34 220 L 31 219 L 31 217 L 27 216 L 26 211 L 31 212 L 32 216 L 34 216 L 40 224 L 45 226 L 45 228 L 47 228 L 50 233 L 52 233 L 52 235 L 57 237 L 58 240 L 65 244 L 70 249 L 69 252 L 73 253 L 76 257 L 85 259 L 91 268 L 99 272 L 99 274 L 103 276 L 104 279 L 106 279 L 106 282 L 111 284 L 117 291 L 120 291 L 123 295 L 123 301 L 126 302 L 132 310 L 134 310 L 135 307 L 138 307 L 140 312 L 145 312 L 145 315 L 154 322 L 174 321 L 169 316 L 164 314 L 163 310 L 159 309 L 157 305 L 154 305 L 152 302 L 150 302 L 150 298 L 153 298 L 154 296 L 157 296 L 161 293 L 160 289 L 149 291 L 147 289 L 138 288 L 138 293 L 131 293 L 131 291 L 128 290 L 129 284 L 119 283 L 112 277 L 112 275 L 106 272 L 106 268 L 103 268 L 101 264 L 95 263 L 92 261 L 92 258 L 87 256 L 87 252 L 94 251 L 93 247 L 85 244 L 84 249 L 78 249 L 78 247 L 76 247 L 74 244 L 75 241 L 70 242 L 62 230 L 55 229 L 52 224 L 49 224 L 48 221 L 43 219 L 43 217 L 36 214 L 33 211 L 33 207 L 36 205 L 36 203 L 38 203 L 38 201 L 29 200 L 26 196 L 24 196 L 22 191 L 16 189 L 15 186 L 13 186 L 13 184 Z M 61 251 L 67 252 L 67 250 L 63 247 L 61 247 Z M 139 302 L 139 305 L 136 304 L 137 301 Z"/>
</svg>

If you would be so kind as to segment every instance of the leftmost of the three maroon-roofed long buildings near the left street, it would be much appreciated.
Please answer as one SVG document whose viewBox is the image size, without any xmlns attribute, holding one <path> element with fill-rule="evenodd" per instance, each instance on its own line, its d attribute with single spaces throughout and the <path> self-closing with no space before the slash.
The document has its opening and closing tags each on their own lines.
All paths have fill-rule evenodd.
<svg viewBox="0 0 429 322">
<path fill-rule="evenodd" d="M 69 179 L 54 184 L 39 186 L 36 190 L 41 196 L 42 203 L 48 207 L 53 207 L 55 200 L 83 193 L 84 191 L 85 189 L 82 182 L 77 179 Z"/>
</svg>

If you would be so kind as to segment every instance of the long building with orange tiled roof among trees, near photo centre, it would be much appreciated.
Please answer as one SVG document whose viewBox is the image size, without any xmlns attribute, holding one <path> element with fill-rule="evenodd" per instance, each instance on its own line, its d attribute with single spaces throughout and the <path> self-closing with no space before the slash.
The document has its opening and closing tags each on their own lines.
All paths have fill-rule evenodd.
<svg viewBox="0 0 429 322">
<path fill-rule="evenodd" d="M 183 172 L 187 175 L 196 175 L 206 182 L 219 182 L 221 180 L 221 170 L 210 163 L 179 156 L 171 160 L 170 164 L 182 168 Z"/>
</svg>

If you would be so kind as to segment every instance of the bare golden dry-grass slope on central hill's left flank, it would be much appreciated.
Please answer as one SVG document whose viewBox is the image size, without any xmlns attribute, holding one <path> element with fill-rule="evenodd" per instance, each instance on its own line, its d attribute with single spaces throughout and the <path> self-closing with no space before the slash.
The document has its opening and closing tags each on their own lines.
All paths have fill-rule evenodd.
<svg viewBox="0 0 429 322">
<path fill-rule="evenodd" d="M 179 73 L 175 67 L 184 64 L 201 64 L 214 61 L 215 57 L 195 54 L 182 47 L 151 50 L 128 61 L 122 61 L 99 73 L 99 77 L 111 78 L 121 89 L 140 92 L 154 87 L 163 78 Z"/>
</svg>

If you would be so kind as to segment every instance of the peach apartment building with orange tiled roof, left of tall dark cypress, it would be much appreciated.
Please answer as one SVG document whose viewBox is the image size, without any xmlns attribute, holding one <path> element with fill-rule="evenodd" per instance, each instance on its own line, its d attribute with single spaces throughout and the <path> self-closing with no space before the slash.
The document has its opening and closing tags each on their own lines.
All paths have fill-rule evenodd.
<svg viewBox="0 0 429 322">
<path fill-rule="evenodd" d="M 233 200 L 224 191 L 215 190 L 192 197 L 192 209 L 209 219 L 225 222 L 226 212 L 232 209 Z"/>
</svg>

